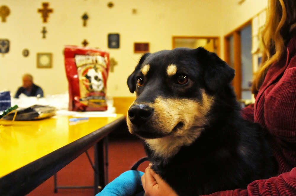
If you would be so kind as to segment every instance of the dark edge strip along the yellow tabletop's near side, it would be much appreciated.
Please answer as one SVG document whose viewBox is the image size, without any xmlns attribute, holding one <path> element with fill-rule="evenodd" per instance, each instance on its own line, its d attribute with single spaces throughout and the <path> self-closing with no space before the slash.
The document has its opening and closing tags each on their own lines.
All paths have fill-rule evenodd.
<svg viewBox="0 0 296 196">
<path fill-rule="evenodd" d="M 0 178 L 0 195 L 26 195 L 126 122 L 122 116 Z"/>
</svg>

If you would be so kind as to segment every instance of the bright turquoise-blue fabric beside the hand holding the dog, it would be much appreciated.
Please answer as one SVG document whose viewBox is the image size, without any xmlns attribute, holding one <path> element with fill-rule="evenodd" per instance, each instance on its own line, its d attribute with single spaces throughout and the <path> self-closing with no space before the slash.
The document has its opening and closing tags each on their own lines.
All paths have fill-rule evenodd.
<svg viewBox="0 0 296 196">
<path fill-rule="evenodd" d="M 126 171 L 107 184 L 96 196 L 133 196 L 143 192 L 141 181 L 143 174 L 143 172 L 136 170 Z"/>
</svg>

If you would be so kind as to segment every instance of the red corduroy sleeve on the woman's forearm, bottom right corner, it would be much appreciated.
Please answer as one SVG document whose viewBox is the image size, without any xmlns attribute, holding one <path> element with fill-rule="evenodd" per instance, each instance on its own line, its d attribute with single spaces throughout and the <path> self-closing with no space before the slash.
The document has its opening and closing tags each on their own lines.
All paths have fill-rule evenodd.
<svg viewBox="0 0 296 196">
<path fill-rule="evenodd" d="M 282 196 L 296 194 L 296 167 L 290 172 L 266 180 L 256 180 L 247 189 L 220 191 L 209 196 Z"/>
</svg>

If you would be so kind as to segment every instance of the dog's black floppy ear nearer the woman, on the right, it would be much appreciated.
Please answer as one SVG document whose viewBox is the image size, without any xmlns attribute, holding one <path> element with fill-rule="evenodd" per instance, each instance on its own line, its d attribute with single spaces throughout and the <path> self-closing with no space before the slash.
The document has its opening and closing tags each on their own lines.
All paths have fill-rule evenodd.
<svg viewBox="0 0 296 196">
<path fill-rule="evenodd" d="M 197 60 L 204 68 L 204 79 L 208 89 L 216 92 L 232 81 L 234 69 L 225 61 L 222 61 L 215 53 L 209 52 L 202 47 L 195 50 Z"/>
</svg>

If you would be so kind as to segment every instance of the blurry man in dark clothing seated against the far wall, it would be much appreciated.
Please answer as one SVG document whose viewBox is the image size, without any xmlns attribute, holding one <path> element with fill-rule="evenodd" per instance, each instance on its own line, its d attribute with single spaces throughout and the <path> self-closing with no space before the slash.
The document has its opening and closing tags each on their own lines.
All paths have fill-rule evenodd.
<svg viewBox="0 0 296 196">
<path fill-rule="evenodd" d="M 24 74 L 22 76 L 22 86 L 17 89 L 15 93 L 15 98 L 19 98 L 20 94 L 25 94 L 27 96 L 33 97 L 43 97 L 43 90 L 33 83 L 33 76 L 30 74 Z"/>
</svg>

